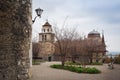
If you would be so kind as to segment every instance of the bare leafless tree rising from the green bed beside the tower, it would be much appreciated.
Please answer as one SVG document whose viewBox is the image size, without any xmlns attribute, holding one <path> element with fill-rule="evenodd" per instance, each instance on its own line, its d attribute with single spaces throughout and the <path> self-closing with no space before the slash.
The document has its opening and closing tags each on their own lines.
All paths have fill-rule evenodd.
<svg viewBox="0 0 120 80">
<path fill-rule="evenodd" d="M 66 56 L 70 49 L 70 44 L 76 35 L 76 28 L 54 28 L 56 43 L 55 47 L 58 50 L 58 54 L 61 57 L 62 66 L 64 66 L 66 61 Z"/>
</svg>

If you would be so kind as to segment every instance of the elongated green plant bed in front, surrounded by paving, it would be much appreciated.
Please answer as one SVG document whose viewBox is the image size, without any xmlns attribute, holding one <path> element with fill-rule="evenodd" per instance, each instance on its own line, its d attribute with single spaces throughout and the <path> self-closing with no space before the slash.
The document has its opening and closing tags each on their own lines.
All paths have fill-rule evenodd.
<svg viewBox="0 0 120 80">
<path fill-rule="evenodd" d="M 77 72 L 77 73 L 89 73 L 89 74 L 97 74 L 97 73 L 101 73 L 100 70 L 96 69 L 95 67 L 90 68 L 84 68 L 84 67 L 75 67 L 75 66 L 62 66 L 60 64 L 54 64 L 50 66 L 51 68 L 55 68 L 55 69 L 64 69 L 64 70 L 69 70 L 72 72 Z"/>
</svg>

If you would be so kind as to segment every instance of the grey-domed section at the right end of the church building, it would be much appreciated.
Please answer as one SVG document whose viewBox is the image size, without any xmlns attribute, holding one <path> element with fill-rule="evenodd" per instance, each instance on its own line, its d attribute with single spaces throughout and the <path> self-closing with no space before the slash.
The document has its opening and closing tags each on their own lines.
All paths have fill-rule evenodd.
<svg viewBox="0 0 120 80">
<path fill-rule="evenodd" d="M 91 62 L 104 62 L 106 55 L 106 44 L 104 34 L 102 36 L 99 32 L 93 30 L 87 36 L 88 51 L 92 53 Z"/>
</svg>

